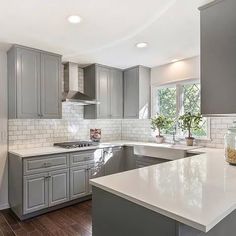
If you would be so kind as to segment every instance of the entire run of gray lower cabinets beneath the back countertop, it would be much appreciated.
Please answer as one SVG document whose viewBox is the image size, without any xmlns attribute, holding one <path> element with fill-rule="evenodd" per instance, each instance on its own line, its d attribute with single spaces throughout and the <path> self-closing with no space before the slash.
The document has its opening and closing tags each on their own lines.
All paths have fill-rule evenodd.
<svg viewBox="0 0 236 236">
<path fill-rule="evenodd" d="M 9 204 L 20 219 L 91 197 L 89 180 L 157 164 L 134 155 L 133 147 L 22 158 L 9 154 Z M 70 202 L 71 201 L 71 202 Z"/>
</svg>

